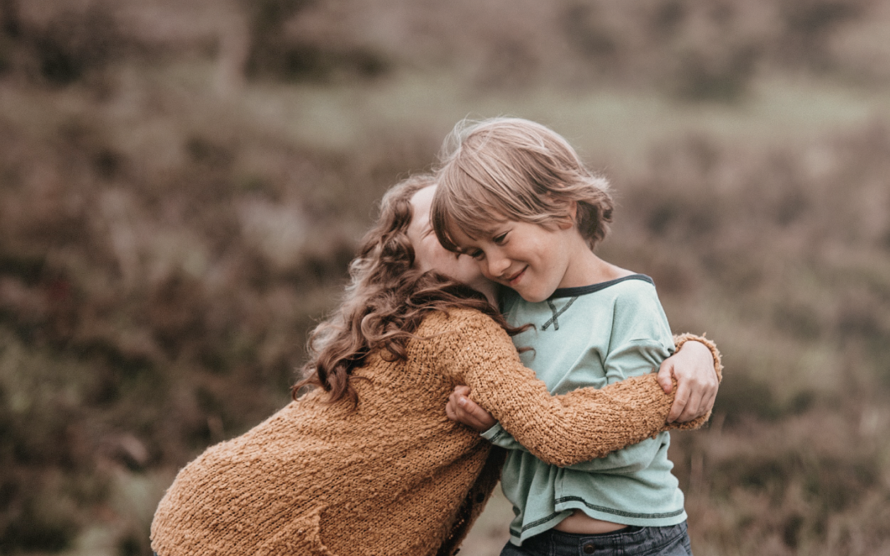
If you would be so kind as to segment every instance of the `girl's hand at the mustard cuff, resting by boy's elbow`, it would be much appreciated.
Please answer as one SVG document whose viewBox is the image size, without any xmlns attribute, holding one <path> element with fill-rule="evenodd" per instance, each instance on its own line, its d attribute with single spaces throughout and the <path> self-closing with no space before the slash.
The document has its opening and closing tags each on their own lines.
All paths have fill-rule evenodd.
<svg viewBox="0 0 890 556">
<path fill-rule="evenodd" d="M 671 376 L 676 377 L 677 387 L 667 423 L 692 421 L 714 407 L 719 383 L 714 372 L 714 358 L 705 344 L 685 342 L 679 351 L 661 363 L 658 381 L 666 393 L 674 387 Z"/>
</svg>

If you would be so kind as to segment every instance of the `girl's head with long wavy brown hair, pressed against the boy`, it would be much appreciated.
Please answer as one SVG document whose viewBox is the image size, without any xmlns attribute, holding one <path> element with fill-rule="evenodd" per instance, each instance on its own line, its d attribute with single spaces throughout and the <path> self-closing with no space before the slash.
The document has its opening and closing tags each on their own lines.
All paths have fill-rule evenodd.
<svg viewBox="0 0 890 556">
<path fill-rule="evenodd" d="M 350 264 L 342 304 L 310 334 L 310 359 L 303 366 L 305 378 L 292 388 L 294 398 L 304 385 L 314 384 L 330 392 L 331 401 L 356 400 L 352 369 L 364 365 L 371 351 L 404 359 L 412 333 L 430 310 L 474 308 L 506 326 L 483 294 L 457 281 L 473 282 L 479 277 L 476 266 L 458 263 L 454 254 L 428 243 L 436 241 L 432 232 L 423 233 L 429 228 L 428 201 L 422 205 L 424 197 L 416 196 L 434 185 L 432 175 L 422 174 L 384 195 L 380 214 Z M 425 226 L 415 225 L 418 217 Z M 416 248 L 412 241 L 425 243 Z"/>
</svg>

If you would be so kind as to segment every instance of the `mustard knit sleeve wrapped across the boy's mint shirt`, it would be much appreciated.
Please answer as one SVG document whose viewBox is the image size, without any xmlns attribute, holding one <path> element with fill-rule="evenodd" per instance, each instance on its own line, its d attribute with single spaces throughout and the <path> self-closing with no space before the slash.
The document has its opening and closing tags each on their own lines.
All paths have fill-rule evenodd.
<svg viewBox="0 0 890 556">
<path fill-rule="evenodd" d="M 449 328 L 454 333 L 433 340 L 438 343 L 434 351 L 441 373 L 469 386 L 473 401 L 545 463 L 565 467 L 585 462 L 660 431 L 699 427 L 708 418 L 668 425 L 674 397 L 661 390 L 653 374 L 601 390 L 583 388 L 552 396 L 534 372 L 522 366 L 513 342 L 491 318 L 467 311 L 452 319 L 456 322 Z"/>
</svg>

